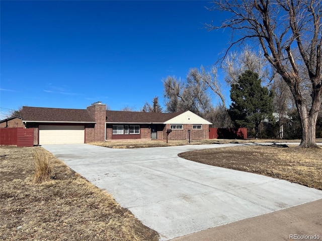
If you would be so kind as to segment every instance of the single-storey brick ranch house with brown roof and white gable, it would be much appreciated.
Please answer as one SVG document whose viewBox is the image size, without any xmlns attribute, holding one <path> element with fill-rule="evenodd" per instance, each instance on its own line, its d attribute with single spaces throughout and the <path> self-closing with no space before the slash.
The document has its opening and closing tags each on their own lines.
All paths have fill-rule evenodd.
<svg viewBox="0 0 322 241">
<path fill-rule="evenodd" d="M 78 144 L 120 139 L 208 139 L 210 122 L 191 111 L 176 113 L 23 106 L 23 123 L 34 128 L 34 144 Z"/>
</svg>

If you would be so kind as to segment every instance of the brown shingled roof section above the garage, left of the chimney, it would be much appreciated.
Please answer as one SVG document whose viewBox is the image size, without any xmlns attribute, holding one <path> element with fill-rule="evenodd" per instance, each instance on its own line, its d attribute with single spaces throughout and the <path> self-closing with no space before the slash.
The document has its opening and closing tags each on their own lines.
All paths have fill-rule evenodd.
<svg viewBox="0 0 322 241">
<path fill-rule="evenodd" d="M 96 123 L 87 109 L 23 106 L 23 122 Z"/>
</svg>

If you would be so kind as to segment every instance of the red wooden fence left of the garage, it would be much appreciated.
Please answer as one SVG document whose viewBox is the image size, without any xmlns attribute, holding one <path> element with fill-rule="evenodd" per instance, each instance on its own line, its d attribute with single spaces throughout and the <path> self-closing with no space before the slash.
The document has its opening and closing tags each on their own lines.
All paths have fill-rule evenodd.
<svg viewBox="0 0 322 241">
<path fill-rule="evenodd" d="M 34 129 L 0 128 L 0 145 L 34 146 Z"/>
</svg>

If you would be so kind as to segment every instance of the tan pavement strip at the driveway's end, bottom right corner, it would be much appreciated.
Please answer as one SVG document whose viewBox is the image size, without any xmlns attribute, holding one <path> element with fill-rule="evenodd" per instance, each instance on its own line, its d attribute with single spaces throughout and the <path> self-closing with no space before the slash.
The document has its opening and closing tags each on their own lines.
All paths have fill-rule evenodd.
<svg viewBox="0 0 322 241">
<path fill-rule="evenodd" d="M 321 207 L 322 199 L 319 199 L 177 237 L 171 241 L 322 240 Z M 303 239 L 301 235 L 306 237 Z M 309 235 L 313 237 L 310 238 Z"/>
</svg>

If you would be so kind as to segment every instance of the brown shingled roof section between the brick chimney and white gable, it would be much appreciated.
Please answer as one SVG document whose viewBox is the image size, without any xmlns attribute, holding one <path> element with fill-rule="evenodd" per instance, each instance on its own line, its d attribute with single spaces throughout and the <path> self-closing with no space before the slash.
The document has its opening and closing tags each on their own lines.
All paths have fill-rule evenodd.
<svg viewBox="0 0 322 241">
<path fill-rule="evenodd" d="M 135 111 L 117 111 L 106 110 L 106 123 L 122 124 L 163 124 L 181 112 L 161 113 L 161 112 L 135 112 Z"/>
</svg>

